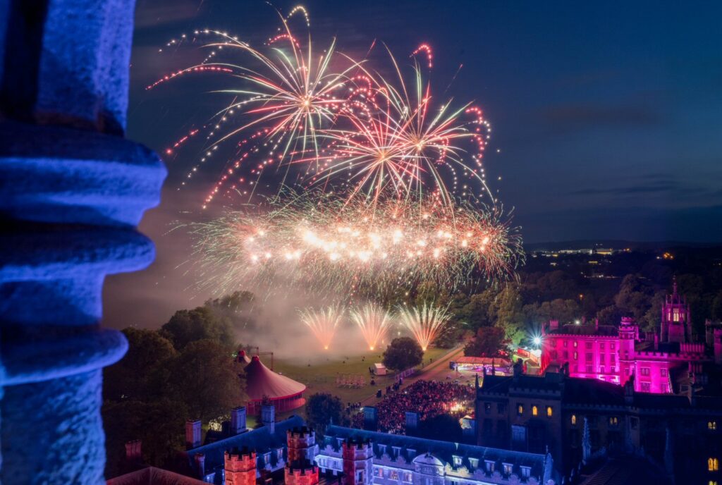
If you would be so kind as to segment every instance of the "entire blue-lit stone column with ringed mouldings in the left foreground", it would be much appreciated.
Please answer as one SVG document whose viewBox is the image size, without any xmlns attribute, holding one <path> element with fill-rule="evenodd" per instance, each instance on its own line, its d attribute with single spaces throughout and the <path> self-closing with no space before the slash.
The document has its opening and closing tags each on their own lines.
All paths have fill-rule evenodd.
<svg viewBox="0 0 722 485">
<path fill-rule="evenodd" d="M 106 274 L 147 266 L 134 227 L 165 168 L 123 139 L 134 1 L 0 0 L 0 480 L 102 484 Z"/>
</svg>

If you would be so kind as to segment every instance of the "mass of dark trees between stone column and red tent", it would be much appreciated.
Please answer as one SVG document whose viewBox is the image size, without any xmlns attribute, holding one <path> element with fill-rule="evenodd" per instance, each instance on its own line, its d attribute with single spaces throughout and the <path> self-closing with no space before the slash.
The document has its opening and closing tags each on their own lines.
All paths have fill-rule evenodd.
<svg viewBox="0 0 722 485">
<path fill-rule="evenodd" d="M 123 330 L 128 353 L 103 379 L 106 476 L 125 471 L 131 440 L 142 440 L 144 463 L 173 468 L 186 420 L 219 423 L 245 403 L 232 315 L 247 303 L 248 294 L 235 293 L 179 310 L 157 331 Z"/>
</svg>

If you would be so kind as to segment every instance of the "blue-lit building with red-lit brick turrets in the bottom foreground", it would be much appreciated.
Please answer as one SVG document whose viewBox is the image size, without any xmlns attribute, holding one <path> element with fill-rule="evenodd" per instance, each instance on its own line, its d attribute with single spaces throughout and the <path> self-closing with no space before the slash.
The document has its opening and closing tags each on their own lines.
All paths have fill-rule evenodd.
<svg viewBox="0 0 722 485">
<path fill-rule="evenodd" d="M 273 406 L 266 410 L 273 414 Z M 235 410 L 234 410 L 235 412 Z M 233 414 L 232 414 L 233 416 Z M 554 461 L 548 453 L 493 447 L 329 426 L 316 434 L 292 416 L 245 430 L 238 426 L 209 432 L 199 442 L 200 422 L 189 421 L 186 472 L 204 483 L 253 485 L 554 485 Z M 272 428 L 272 429 L 271 429 Z M 118 480 L 118 479 L 114 479 Z M 129 482 L 123 482 L 129 483 Z"/>
</svg>

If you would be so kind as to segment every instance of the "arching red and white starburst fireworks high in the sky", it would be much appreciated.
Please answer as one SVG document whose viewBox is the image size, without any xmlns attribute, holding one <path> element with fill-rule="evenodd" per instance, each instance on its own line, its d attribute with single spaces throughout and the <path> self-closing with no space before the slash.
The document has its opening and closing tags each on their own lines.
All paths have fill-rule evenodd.
<svg viewBox="0 0 722 485">
<path fill-rule="evenodd" d="M 479 108 L 435 102 L 417 61 L 422 57 L 431 69 L 429 45 L 419 45 L 410 56 L 412 82 L 389 51 L 396 73 L 389 80 L 378 74 L 389 71 L 386 67 L 372 69 L 367 60 L 336 53 L 335 39 L 322 51 L 314 49 L 310 30 L 308 35 L 292 30 L 294 16 L 303 17 L 308 30 L 310 20 L 302 6 L 286 17 L 279 12 L 279 33 L 260 47 L 227 32 L 197 30 L 191 45 L 210 38 L 205 46 L 212 51 L 206 60 L 147 88 L 188 74 L 220 74 L 232 80 L 232 86 L 215 91 L 232 100 L 218 110 L 216 122 L 207 123 L 210 132 L 200 162 L 188 172 L 187 179 L 232 141 L 233 153 L 204 207 L 219 195 L 240 194 L 250 201 L 271 175 L 271 185 L 279 191 L 282 185 L 322 186 L 344 191 L 349 198 L 371 198 L 375 204 L 383 204 L 381 197 L 390 189 L 396 198 L 435 195 L 450 209 L 456 197 L 488 195 L 487 203 L 495 203 L 481 163 L 490 125 Z M 190 41 L 182 36 L 168 46 Z M 171 144 L 167 153 L 175 153 L 181 144 Z"/>
</svg>

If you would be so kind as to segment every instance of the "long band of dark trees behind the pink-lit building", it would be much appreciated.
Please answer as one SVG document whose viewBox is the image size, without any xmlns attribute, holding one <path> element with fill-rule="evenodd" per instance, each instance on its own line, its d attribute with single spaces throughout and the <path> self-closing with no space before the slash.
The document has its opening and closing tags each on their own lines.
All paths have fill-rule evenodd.
<svg viewBox="0 0 722 485">
<path fill-rule="evenodd" d="M 425 283 L 399 300 L 448 305 L 453 318 L 437 344 L 456 344 L 464 333 L 479 336 L 478 346 L 467 347 L 469 355 L 484 355 L 508 343 L 529 344 L 530 336 L 552 319 L 564 324 L 599 318 L 601 324 L 618 325 L 629 316 L 644 331 L 653 331 L 674 279 L 690 304 L 697 336 L 704 335 L 706 318 L 722 320 L 722 258 L 716 253 L 679 250 L 676 258 L 665 259 L 651 251 L 632 251 L 593 258 L 599 260 L 594 266 L 589 255 L 528 257 L 518 279 L 506 284 L 449 294 Z"/>
</svg>

